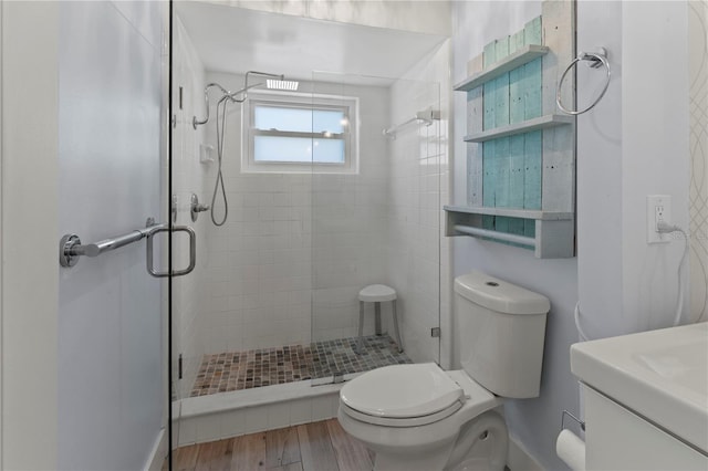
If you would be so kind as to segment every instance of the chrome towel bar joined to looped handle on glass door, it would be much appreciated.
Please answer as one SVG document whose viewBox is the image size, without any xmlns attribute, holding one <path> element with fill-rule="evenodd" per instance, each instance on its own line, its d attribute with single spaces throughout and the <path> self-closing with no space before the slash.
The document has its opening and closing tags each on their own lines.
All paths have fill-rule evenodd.
<svg viewBox="0 0 708 471">
<path fill-rule="evenodd" d="M 159 232 L 187 232 L 189 234 L 189 266 L 185 270 L 170 272 L 157 272 L 153 266 L 153 236 Z M 64 268 L 72 268 L 79 263 L 81 257 L 98 257 L 121 247 L 128 245 L 147 238 L 146 265 L 147 272 L 155 278 L 185 275 L 190 273 L 196 265 L 197 258 L 197 234 L 194 229 L 187 226 L 156 224 L 155 219 L 149 218 L 144 229 L 136 229 L 126 234 L 115 238 L 104 239 L 98 242 L 82 244 L 79 236 L 74 233 L 64 234 L 59 242 L 59 264 Z"/>
</svg>

